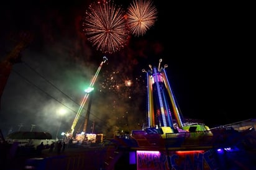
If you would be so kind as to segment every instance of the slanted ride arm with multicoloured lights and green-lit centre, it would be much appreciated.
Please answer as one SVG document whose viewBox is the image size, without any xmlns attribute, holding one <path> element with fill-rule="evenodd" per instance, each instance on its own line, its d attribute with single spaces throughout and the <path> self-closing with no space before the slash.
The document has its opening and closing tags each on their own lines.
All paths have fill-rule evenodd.
<svg viewBox="0 0 256 170">
<path fill-rule="evenodd" d="M 101 64 L 99 65 L 99 67 L 98 67 L 96 73 L 94 74 L 93 79 L 91 80 L 91 83 L 89 84 L 89 87 L 88 87 L 87 89 L 85 89 L 85 97 L 83 97 L 83 100 L 82 100 L 82 102 L 81 102 L 80 108 L 78 109 L 78 112 L 77 112 L 77 114 L 76 114 L 76 117 L 75 117 L 75 119 L 73 120 L 73 123 L 72 123 L 72 125 L 71 125 L 71 134 L 68 134 L 68 135 L 67 135 L 68 138 L 73 138 L 73 133 L 74 133 L 74 130 L 75 130 L 75 127 L 76 127 L 76 123 L 77 123 L 78 120 L 80 119 L 81 111 L 82 111 L 82 109 L 83 109 L 83 107 L 84 107 L 84 105 L 85 105 L 85 103 L 86 103 L 86 101 L 87 101 L 87 99 L 88 99 L 88 97 L 89 97 L 90 92 L 93 91 L 93 89 L 94 89 L 93 86 L 94 86 L 94 83 L 95 83 L 95 81 L 96 81 L 96 79 L 97 79 L 97 77 L 98 77 L 99 71 L 101 70 L 101 67 L 103 66 L 103 64 L 104 64 L 106 61 L 107 61 L 106 56 L 103 56 L 103 61 L 101 61 Z"/>
</svg>

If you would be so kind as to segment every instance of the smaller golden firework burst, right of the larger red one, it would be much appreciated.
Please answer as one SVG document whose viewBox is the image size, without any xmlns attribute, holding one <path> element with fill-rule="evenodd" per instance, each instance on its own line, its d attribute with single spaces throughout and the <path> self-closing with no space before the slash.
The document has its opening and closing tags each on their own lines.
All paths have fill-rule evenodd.
<svg viewBox="0 0 256 170">
<path fill-rule="evenodd" d="M 134 0 L 127 9 L 130 34 L 144 35 L 157 20 L 157 8 L 151 0 Z"/>
</svg>

